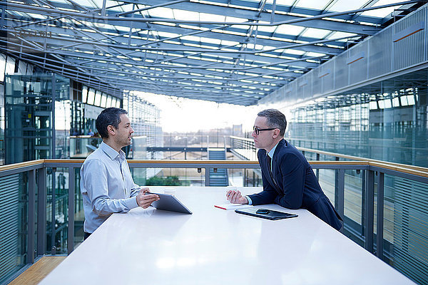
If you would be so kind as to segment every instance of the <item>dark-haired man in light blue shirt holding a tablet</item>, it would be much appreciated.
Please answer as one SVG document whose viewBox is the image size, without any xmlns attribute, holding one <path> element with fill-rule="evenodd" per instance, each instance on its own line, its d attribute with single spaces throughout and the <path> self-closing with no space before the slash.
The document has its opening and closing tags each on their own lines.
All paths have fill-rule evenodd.
<svg viewBox="0 0 428 285">
<path fill-rule="evenodd" d="M 85 239 L 111 214 L 147 208 L 159 199 L 158 195 L 146 195 L 149 189 L 133 182 L 125 152 L 121 150 L 131 144 L 133 133 L 126 114 L 121 108 L 106 108 L 96 118 L 103 142 L 81 167 Z"/>
</svg>

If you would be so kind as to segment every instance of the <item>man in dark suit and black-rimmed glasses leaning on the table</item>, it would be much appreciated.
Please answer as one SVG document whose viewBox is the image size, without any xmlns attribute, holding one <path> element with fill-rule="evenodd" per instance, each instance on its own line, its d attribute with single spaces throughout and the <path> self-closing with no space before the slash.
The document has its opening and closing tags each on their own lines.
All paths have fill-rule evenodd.
<svg viewBox="0 0 428 285">
<path fill-rule="evenodd" d="M 284 140 L 287 120 L 279 110 L 258 113 L 253 139 L 262 168 L 263 191 L 242 196 L 228 191 L 227 199 L 235 204 L 279 204 L 289 209 L 307 209 L 330 226 L 339 230 L 342 219 L 322 192 L 312 167 L 302 152 Z"/>
</svg>

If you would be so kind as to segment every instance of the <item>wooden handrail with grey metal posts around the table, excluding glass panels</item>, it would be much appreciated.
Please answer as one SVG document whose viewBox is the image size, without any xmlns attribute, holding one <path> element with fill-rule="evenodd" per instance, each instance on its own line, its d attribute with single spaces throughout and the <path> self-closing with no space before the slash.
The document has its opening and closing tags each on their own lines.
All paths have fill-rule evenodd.
<svg viewBox="0 0 428 285">
<path fill-rule="evenodd" d="M 68 254 L 73 251 L 74 239 L 74 207 L 75 207 L 75 178 L 76 168 L 81 167 L 84 160 L 68 160 L 68 159 L 46 159 L 34 160 L 30 162 L 21 162 L 14 165 L 4 165 L 0 167 L 0 177 L 12 175 L 16 173 L 27 172 L 29 175 L 29 217 L 28 217 L 28 232 L 35 232 L 34 226 L 37 229 L 37 252 L 44 253 L 46 250 L 46 177 L 47 169 L 56 167 L 68 168 Z M 204 168 L 205 169 L 205 185 L 209 185 L 209 170 L 213 168 L 228 168 L 228 169 L 258 169 L 258 161 L 255 160 L 128 160 L 131 168 Z M 428 184 L 428 168 L 412 167 L 411 165 L 397 165 L 389 162 L 377 162 L 373 160 L 358 160 L 358 161 L 310 161 L 310 165 L 314 169 L 335 170 L 336 190 L 335 190 L 335 207 L 337 212 L 344 217 L 345 212 L 345 170 L 364 170 L 365 183 L 364 199 L 365 207 L 362 209 L 363 219 L 362 225 L 365 228 L 363 242 L 365 248 L 369 252 L 374 252 L 374 244 L 376 244 L 376 254 L 378 257 L 383 257 L 383 202 L 384 202 L 384 177 L 385 175 L 395 175 L 397 177 L 406 178 L 413 181 L 419 181 Z M 36 172 L 38 179 L 36 179 Z M 377 185 L 377 186 L 375 186 Z M 53 185 L 52 187 L 55 186 Z M 374 208 L 375 188 L 377 187 L 377 210 Z M 71 190 L 71 191 L 70 191 Z M 35 197 L 38 197 L 38 207 L 36 207 Z M 55 197 L 53 196 L 53 199 Z M 54 203 L 54 202 L 53 202 Z M 37 210 L 36 210 L 37 208 Z M 34 213 L 37 211 L 37 216 Z M 54 210 L 53 210 L 54 211 Z M 376 216 L 374 213 L 376 212 Z M 34 220 L 37 219 L 37 222 Z M 376 243 L 374 243 L 374 221 L 376 221 L 377 234 Z M 27 261 L 34 262 L 34 234 L 29 234 L 27 240 Z"/>
</svg>

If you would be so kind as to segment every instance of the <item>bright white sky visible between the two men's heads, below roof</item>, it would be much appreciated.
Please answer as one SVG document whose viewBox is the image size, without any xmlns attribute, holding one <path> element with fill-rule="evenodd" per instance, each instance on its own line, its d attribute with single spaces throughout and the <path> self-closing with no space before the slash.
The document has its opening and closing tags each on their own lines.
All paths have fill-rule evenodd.
<svg viewBox="0 0 428 285">
<path fill-rule="evenodd" d="M 260 111 L 258 106 L 245 107 L 153 93 L 134 93 L 161 110 L 161 126 L 163 131 L 168 133 L 194 132 L 241 124 L 243 130 L 251 130 Z"/>
</svg>

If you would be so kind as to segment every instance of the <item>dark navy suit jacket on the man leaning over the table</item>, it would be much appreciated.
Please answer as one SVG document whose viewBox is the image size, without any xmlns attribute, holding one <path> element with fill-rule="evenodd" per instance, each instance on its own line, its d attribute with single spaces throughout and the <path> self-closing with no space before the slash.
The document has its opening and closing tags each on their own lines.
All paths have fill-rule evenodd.
<svg viewBox="0 0 428 285">
<path fill-rule="evenodd" d="M 286 140 L 280 140 L 272 160 L 270 175 L 266 150 L 258 151 L 262 168 L 263 191 L 249 195 L 253 204 L 279 204 L 289 209 L 307 209 L 335 229 L 342 218 L 322 192 L 312 167 L 302 152 Z"/>
</svg>

